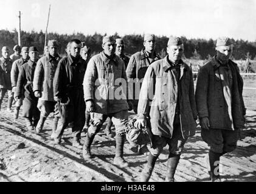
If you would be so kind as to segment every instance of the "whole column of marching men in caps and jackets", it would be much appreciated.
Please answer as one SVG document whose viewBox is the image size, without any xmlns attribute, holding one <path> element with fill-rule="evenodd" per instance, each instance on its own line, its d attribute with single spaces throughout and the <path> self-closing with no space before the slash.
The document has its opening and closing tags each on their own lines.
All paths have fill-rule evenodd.
<svg viewBox="0 0 256 194">
<path fill-rule="evenodd" d="M 192 69 L 182 61 L 184 44 L 170 36 L 167 53 L 161 59 L 155 49 L 154 35 L 144 36 L 144 47 L 129 59 L 124 55 L 123 39 L 103 37 L 103 51 L 91 58 L 91 49 L 78 39 L 66 47 L 64 58 L 58 55 L 58 43 L 51 40 L 47 53 L 38 60 L 36 47 L 16 45 L 12 63 L 9 49 L 2 47 L 0 59 L 0 109 L 5 93 L 8 107 L 16 99 L 15 118 L 23 103 L 28 130 L 40 133 L 44 121 L 54 113 L 52 135 L 56 144 L 66 127 L 72 128 L 72 146 L 83 148 L 83 158 L 92 158 L 91 145 L 107 120 L 106 135 L 116 130 L 116 155 L 113 164 L 128 167 L 123 155 L 128 110 L 134 110 L 134 127 L 149 127 L 152 133 L 147 164 L 140 181 L 149 181 L 158 156 L 168 144 L 165 181 L 175 181 L 175 172 L 184 145 L 195 135 L 199 118 L 202 139 L 209 145 L 206 165 L 209 178 L 220 181 L 220 157 L 232 152 L 244 126 L 243 79 L 230 60 L 233 44 L 218 38 L 216 55 L 198 74 L 194 91 Z M 19 56 L 21 52 L 21 56 Z M 18 58 L 20 57 L 20 58 Z M 87 129 L 81 144 L 83 127 Z M 147 146 L 147 145 L 145 145 Z"/>
</svg>

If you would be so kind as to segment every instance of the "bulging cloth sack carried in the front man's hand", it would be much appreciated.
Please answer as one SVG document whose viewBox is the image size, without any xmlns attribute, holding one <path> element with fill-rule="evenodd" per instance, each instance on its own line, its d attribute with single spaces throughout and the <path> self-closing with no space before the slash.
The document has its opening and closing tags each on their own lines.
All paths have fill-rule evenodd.
<svg viewBox="0 0 256 194">
<path fill-rule="evenodd" d="M 134 122 L 136 118 L 131 119 L 126 123 L 126 139 L 132 146 L 142 146 L 150 142 L 152 147 L 152 132 L 150 127 L 145 127 L 143 129 L 137 129 L 134 127 Z M 147 125 L 149 126 L 149 125 Z"/>
</svg>

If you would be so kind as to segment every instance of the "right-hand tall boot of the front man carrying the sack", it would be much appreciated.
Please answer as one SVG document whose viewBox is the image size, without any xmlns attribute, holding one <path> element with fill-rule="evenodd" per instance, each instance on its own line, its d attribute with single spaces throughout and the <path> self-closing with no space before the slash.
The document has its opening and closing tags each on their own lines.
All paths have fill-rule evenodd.
<svg viewBox="0 0 256 194">
<path fill-rule="evenodd" d="M 179 163 L 179 158 L 181 158 L 181 155 L 175 155 L 173 153 L 170 153 L 167 161 L 167 173 L 165 176 L 165 182 L 175 181 L 175 171 Z"/>
</svg>

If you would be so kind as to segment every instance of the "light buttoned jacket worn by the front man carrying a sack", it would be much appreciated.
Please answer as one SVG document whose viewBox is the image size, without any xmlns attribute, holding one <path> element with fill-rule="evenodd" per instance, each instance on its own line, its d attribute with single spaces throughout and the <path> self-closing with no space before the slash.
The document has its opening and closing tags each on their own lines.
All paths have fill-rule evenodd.
<svg viewBox="0 0 256 194">
<path fill-rule="evenodd" d="M 153 62 L 147 69 L 140 90 L 138 118 L 149 116 L 152 133 L 171 138 L 176 105 L 179 102 L 181 130 L 185 139 L 194 135 L 196 129 L 197 115 L 192 71 L 189 65 L 181 61 L 179 63 L 181 73 L 177 80 L 167 58 L 168 55 Z"/>
</svg>

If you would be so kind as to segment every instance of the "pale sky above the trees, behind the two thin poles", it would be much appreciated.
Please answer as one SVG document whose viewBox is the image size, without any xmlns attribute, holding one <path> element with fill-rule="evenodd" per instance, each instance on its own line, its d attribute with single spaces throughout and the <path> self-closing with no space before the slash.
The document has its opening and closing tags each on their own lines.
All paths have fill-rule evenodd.
<svg viewBox="0 0 256 194">
<path fill-rule="evenodd" d="M 0 29 L 256 41 L 256 0 L 0 0 Z"/>
</svg>

